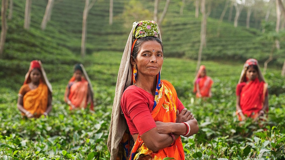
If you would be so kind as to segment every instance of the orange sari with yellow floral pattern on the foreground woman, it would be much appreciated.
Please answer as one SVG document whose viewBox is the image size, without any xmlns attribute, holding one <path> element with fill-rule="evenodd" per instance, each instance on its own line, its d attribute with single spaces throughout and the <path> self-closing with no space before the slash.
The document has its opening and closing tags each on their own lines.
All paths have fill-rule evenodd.
<svg viewBox="0 0 285 160">
<path fill-rule="evenodd" d="M 157 106 L 151 112 L 152 117 L 155 121 L 176 122 L 177 93 L 170 82 L 161 80 L 161 85 L 162 87 L 158 91 L 158 99 L 156 100 Z M 139 135 L 132 149 L 130 160 L 137 160 L 142 157 L 147 160 L 162 160 L 165 157 L 184 160 L 181 138 L 177 138 L 175 145 L 171 147 L 166 147 L 158 152 L 152 152 L 146 147 Z"/>
</svg>

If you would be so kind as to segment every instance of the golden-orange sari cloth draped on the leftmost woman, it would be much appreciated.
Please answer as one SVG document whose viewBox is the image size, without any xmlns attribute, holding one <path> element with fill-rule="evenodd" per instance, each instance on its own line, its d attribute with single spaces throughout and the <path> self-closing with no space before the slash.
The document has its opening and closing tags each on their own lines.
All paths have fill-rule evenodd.
<svg viewBox="0 0 285 160">
<path fill-rule="evenodd" d="M 39 118 L 46 112 L 48 103 L 48 87 L 40 82 L 39 86 L 29 92 L 23 97 L 23 107 L 35 117 Z M 23 114 L 23 113 L 22 113 Z"/>
</svg>

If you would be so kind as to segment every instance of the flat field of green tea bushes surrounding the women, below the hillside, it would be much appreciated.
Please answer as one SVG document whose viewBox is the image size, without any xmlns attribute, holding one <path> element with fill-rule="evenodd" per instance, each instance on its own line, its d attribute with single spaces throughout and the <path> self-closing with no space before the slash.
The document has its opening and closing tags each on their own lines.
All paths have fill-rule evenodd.
<svg viewBox="0 0 285 160">
<path fill-rule="evenodd" d="M 106 56 L 108 55 L 108 56 Z M 63 101 L 64 90 L 72 75 L 72 65 L 59 65 L 66 72 L 53 72 L 45 65 L 53 81 L 52 112 L 48 118 L 25 119 L 16 109 L 18 88 L 0 88 L 0 158 L 5 159 L 109 159 L 107 137 L 122 53 L 98 52 L 82 59 L 95 91 L 95 112 L 69 111 Z M 112 57 L 112 58 L 107 58 Z M 273 93 L 284 83 L 279 71 L 268 68 L 269 88 L 267 121 L 239 123 L 235 115 L 235 86 L 243 64 L 203 61 L 214 80 L 213 97 L 196 99 L 192 93 L 195 61 L 178 58 L 164 60 L 161 77 L 175 86 L 179 99 L 199 123 L 199 132 L 182 137 L 186 159 L 282 159 L 285 145 L 285 94 Z M 185 67 L 187 66 L 187 67 Z M 22 66 L 24 72 L 29 63 Z M 19 78 L 23 79 L 23 73 Z M 278 82 L 276 82 L 278 80 Z M 4 86 L 8 82 L 3 82 Z M 280 85 L 279 85 L 280 86 Z"/>
</svg>

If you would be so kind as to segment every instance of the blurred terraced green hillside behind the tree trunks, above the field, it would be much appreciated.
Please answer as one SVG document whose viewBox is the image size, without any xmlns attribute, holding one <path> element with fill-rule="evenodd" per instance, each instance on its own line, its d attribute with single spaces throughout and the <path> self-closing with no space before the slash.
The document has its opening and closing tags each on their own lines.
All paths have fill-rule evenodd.
<svg viewBox="0 0 285 160">
<path fill-rule="evenodd" d="M 33 59 L 41 59 L 49 65 L 47 69 L 50 71 L 57 68 L 66 71 L 65 68 L 68 68 L 69 64 L 78 61 L 88 63 L 88 60 L 79 56 L 82 12 L 85 5 L 83 0 L 56 0 L 51 20 L 44 31 L 40 29 L 40 25 L 47 0 L 33 1 L 30 30 L 23 29 L 25 2 L 13 2 L 13 18 L 8 21 L 4 56 L 0 60 L 1 77 L 5 75 L 4 77 L 18 82 L 19 78 L 16 76 L 25 73 Z M 180 15 L 180 4 L 179 0 L 170 2 L 160 26 L 164 54 L 165 57 L 196 59 L 200 43 L 201 17 L 194 17 L 194 5 L 191 1 L 187 1 L 183 14 Z M 163 8 L 164 1 L 161 1 L 159 13 Z M 113 12 L 113 25 L 109 25 L 109 1 L 97 0 L 91 8 L 88 15 L 87 54 L 97 51 L 122 52 L 131 30 L 131 23 L 152 19 L 153 2 L 117 0 L 114 1 Z M 262 63 L 267 59 L 271 45 L 267 41 L 260 41 L 261 35 L 257 29 L 246 29 L 243 26 L 234 28 L 231 23 L 224 21 L 219 24 L 217 19 L 208 17 L 207 47 L 203 49 L 202 59 L 244 62 L 245 59 L 254 57 Z M 284 45 L 282 42 L 281 46 Z M 274 57 L 271 64 L 281 66 L 284 60 L 284 54 L 281 53 Z"/>
</svg>

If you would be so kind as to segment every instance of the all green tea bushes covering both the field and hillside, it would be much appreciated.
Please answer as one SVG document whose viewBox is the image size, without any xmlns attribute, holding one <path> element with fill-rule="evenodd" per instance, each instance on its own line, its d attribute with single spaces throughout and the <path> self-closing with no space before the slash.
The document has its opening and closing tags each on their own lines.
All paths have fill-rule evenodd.
<svg viewBox="0 0 285 160">
<path fill-rule="evenodd" d="M 22 27 L 24 1 L 13 2 L 13 18 L 8 21 L 0 60 L 0 159 L 110 159 L 106 144 L 122 52 L 132 22 L 151 18 L 153 2 L 115 1 L 113 25 L 109 25 L 109 2 L 98 0 L 88 15 L 84 58 L 79 57 L 84 1 L 56 1 L 45 31 L 40 24 L 47 1 L 33 1 L 30 30 Z M 164 7 L 164 2 L 160 3 L 159 13 Z M 217 13 L 223 7 L 214 9 L 208 18 L 207 47 L 202 53 L 203 60 L 219 61 L 202 61 L 214 80 L 213 97 L 196 99 L 192 92 L 196 61 L 190 59 L 197 58 L 201 17 L 194 18 L 190 1 L 179 15 L 180 5 L 180 1 L 170 2 L 160 26 L 166 58 L 161 76 L 175 86 L 179 99 L 199 123 L 198 134 L 182 137 L 186 159 L 284 159 L 285 80 L 280 76 L 284 49 L 274 53 L 264 75 L 269 90 L 267 121 L 239 123 L 235 116 L 235 86 L 243 63 L 256 58 L 262 64 L 269 56 L 272 39 L 264 38 L 258 29 L 234 28 L 228 22 L 218 24 Z M 133 16 L 130 11 L 134 9 L 140 9 L 140 15 Z M 270 23 L 264 25 L 265 33 L 272 28 Z M 283 33 L 270 36 L 282 38 Z M 52 84 L 53 109 L 48 118 L 24 119 L 16 108 L 17 93 L 34 59 L 43 62 Z M 91 79 L 95 112 L 69 111 L 63 101 L 72 67 L 78 62 L 83 63 Z"/>
</svg>

